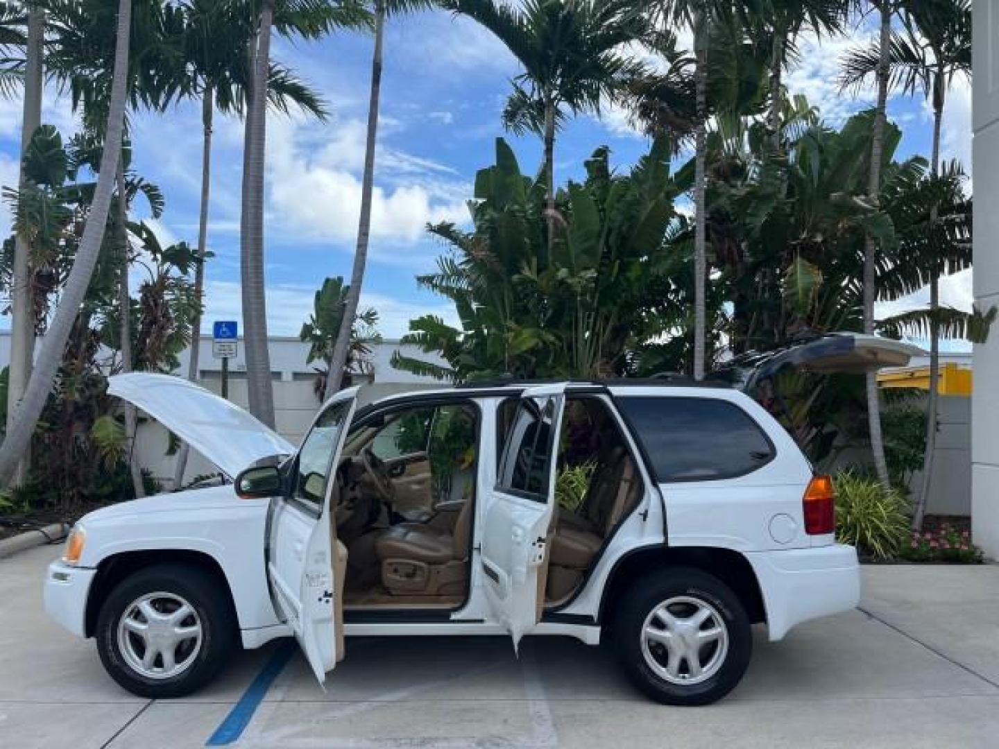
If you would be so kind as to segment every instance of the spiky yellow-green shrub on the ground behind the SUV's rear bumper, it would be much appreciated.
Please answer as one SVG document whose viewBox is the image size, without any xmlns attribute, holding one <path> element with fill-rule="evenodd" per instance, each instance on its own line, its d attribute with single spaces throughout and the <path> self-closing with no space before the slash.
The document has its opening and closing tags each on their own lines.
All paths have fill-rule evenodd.
<svg viewBox="0 0 999 749">
<path fill-rule="evenodd" d="M 889 559 L 902 547 L 909 528 L 907 504 L 895 489 L 853 469 L 836 473 L 836 539 L 861 554 Z"/>
</svg>

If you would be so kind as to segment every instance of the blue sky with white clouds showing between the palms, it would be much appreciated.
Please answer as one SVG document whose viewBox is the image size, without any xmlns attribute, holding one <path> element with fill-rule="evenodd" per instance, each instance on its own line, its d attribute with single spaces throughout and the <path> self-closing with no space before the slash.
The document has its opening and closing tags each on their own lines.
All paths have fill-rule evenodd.
<svg viewBox="0 0 999 749">
<path fill-rule="evenodd" d="M 787 85 L 805 94 L 831 122 L 873 102 L 873 91 L 841 97 L 837 61 L 851 39 L 801 43 L 799 65 Z M 327 123 L 272 114 L 268 121 L 266 251 L 268 317 L 272 335 L 297 335 L 312 307 L 313 292 L 327 276 L 350 276 L 364 161 L 372 40 L 340 34 L 320 43 L 277 39 L 274 57 L 290 65 L 322 92 L 333 109 Z M 533 172 L 540 148 L 532 137 L 504 134 L 500 110 L 517 72 L 511 56 L 488 32 L 471 22 L 437 12 L 393 19 L 385 52 L 382 123 L 376 174 L 373 239 L 362 304 L 376 307 L 388 338 L 405 333 L 419 315 L 454 318 L 442 300 L 418 289 L 415 276 L 432 270 L 442 247 L 429 238 L 428 221 L 467 219 L 478 169 L 492 163 L 494 142 L 506 137 L 521 169 Z M 0 102 L 0 183 L 16 183 L 20 138 L 19 100 Z M 890 116 L 903 128 L 899 156 L 926 154 L 930 122 L 921 100 L 894 97 Z M 75 127 L 65 98 L 48 92 L 44 119 L 64 136 Z M 135 118 L 135 168 L 159 184 L 167 199 L 156 227 L 161 241 L 197 239 L 201 163 L 200 106 L 187 103 L 166 115 Z M 209 246 L 207 318 L 240 318 L 239 200 L 242 124 L 217 118 Z M 607 145 L 612 161 L 626 167 L 647 141 L 617 110 L 601 119 L 583 116 L 559 135 L 556 178 L 578 177 L 595 148 Z M 944 156 L 959 158 L 970 171 L 970 89 L 952 91 L 944 127 Z M 6 233 L 9 209 L 0 212 Z M 944 285 L 944 299 L 970 304 L 970 275 Z M 918 304 L 921 300 L 914 300 Z M 0 327 L 9 319 L 0 318 Z"/>
</svg>

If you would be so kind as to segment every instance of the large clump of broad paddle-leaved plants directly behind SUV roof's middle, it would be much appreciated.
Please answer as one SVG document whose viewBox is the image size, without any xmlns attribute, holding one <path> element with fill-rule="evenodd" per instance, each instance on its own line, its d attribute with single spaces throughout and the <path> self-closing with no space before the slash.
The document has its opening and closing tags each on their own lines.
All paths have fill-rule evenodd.
<svg viewBox="0 0 999 749">
<path fill-rule="evenodd" d="M 393 366 L 464 381 L 486 376 L 614 375 L 629 350 L 682 329 L 688 297 L 666 247 L 679 221 L 670 145 L 658 139 L 626 175 L 613 174 L 606 148 L 586 162 L 586 179 L 556 200 L 558 227 L 546 237 L 543 176 L 520 173 L 497 141 L 496 166 L 476 177 L 473 230 L 430 228 L 450 252 L 418 282 L 452 300 L 461 328 L 425 316 L 404 344 L 438 353 L 438 366 L 397 353 Z M 688 274 L 687 274 L 688 275 Z"/>
</svg>

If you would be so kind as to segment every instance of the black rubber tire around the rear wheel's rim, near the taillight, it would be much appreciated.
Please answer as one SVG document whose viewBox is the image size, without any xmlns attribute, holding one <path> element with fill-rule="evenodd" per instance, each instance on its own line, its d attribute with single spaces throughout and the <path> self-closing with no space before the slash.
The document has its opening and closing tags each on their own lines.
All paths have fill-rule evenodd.
<svg viewBox="0 0 999 749">
<path fill-rule="evenodd" d="M 664 666 L 665 646 L 656 643 L 648 647 L 643 645 L 642 630 L 646 618 L 661 603 L 677 597 L 707 604 L 704 610 L 709 607 L 717 614 L 711 621 L 720 619 L 727 633 L 723 648 L 719 641 L 705 645 L 701 650 L 709 662 L 715 657 L 714 648 L 718 648 L 719 654 L 713 673 L 697 683 L 676 683 L 657 673 L 649 664 L 646 651 L 649 657 Z M 711 625 L 707 626 L 710 628 Z M 752 653 L 752 628 L 738 596 L 716 577 L 692 567 L 677 567 L 636 580 L 620 599 L 614 617 L 613 637 L 618 659 L 627 676 L 651 699 L 666 705 L 708 705 L 721 699 L 738 684 Z M 680 670 L 678 677 L 674 678 L 689 679 L 689 664 L 680 662 L 684 664 L 687 674 L 684 676 Z M 708 672 L 708 669 L 705 668 L 705 671 Z"/>
</svg>

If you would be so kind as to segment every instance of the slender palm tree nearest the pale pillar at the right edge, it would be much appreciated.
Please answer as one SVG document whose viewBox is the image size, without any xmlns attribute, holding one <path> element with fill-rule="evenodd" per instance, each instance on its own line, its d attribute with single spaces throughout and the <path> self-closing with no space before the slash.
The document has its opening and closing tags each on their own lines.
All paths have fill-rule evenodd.
<svg viewBox="0 0 999 749">
<path fill-rule="evenodd" d="M 904 6 L 903 29 L 892 36 L 891 83 L 908 94 L 921 92 L 933 108 L 933 142 L 930 175 L 940 175 L 940 138 L 947 90 L 956 77 L 971 75 L 971 3 L 969 0 L 918 0 Z M 846 61 L 843 80 L 854 85 L 877 70 L 880 56 L 868 50 L 854 51 Z M 932 212 L 931 223 L 937 211 Z M 929 496 L 936 449 L 938 383 L 940 378 L 940 276 L 946 258 L 929 258 L 930 306 L 927 315 L 930 339 L 930 382 L 927 403 L 926 447 L 923 475 L 912 526 L 922 527 Z M 946 317 L 946 316 L 944 316 Z"/>
</svg>

